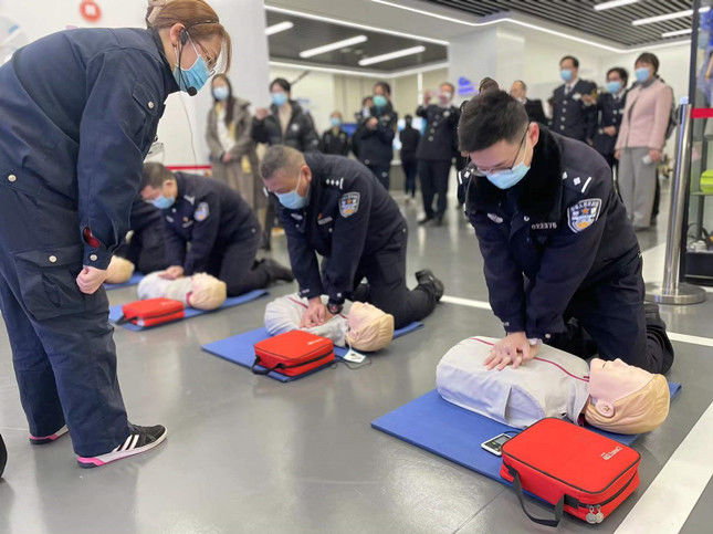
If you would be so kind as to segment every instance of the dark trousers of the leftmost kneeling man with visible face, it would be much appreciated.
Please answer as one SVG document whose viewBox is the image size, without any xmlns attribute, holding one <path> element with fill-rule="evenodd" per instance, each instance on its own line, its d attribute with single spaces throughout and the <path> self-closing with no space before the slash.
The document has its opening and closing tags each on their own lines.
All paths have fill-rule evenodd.
<svg viewBox="0 0 713 534">
<path fill-rule="evenodd" d="M 260 228 L 240 241 L 213 253 L 208 262 L 208 274 L 228 285 L 228 296 L 239 296 L 270 284 L 271 278 L 264 263 L 255 262 L 262 237 Z"/>
</svg>

